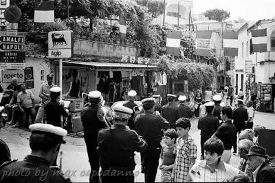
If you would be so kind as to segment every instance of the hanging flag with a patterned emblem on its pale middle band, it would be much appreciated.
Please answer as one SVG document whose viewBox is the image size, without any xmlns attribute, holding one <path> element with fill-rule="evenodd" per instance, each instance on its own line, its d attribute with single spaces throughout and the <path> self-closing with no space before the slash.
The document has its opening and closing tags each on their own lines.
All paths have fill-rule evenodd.
<svg viewBox="0 0 275 183">
<path fill-rule="evenodd" d="M 196 55 L 198 56 L 211 56 L 211 36 L 212 32 L 196 32 Z"/>
</svg>

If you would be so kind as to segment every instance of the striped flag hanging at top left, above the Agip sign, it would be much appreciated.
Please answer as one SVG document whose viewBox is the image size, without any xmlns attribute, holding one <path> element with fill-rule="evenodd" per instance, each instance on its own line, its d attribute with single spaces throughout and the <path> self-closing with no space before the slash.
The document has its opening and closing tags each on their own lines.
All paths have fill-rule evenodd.
<svg viewBox="0 0 275 183">
<path fill-rule="evenodd" d="M 34 22 L 54 22 L 54 0 L 34 0 Z"/>
</svg>

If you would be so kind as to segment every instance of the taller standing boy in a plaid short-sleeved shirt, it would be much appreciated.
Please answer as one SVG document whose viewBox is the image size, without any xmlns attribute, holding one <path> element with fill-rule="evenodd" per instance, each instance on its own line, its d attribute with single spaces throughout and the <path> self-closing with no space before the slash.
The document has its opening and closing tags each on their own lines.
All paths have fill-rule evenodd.
<svg viewBox="0 0 275 183">
<path fill-rule="evenodd" d="M 176 154 L 175 165 L 172 172 L 173 182 L 190 182 L 188 172 L 197 158 L 197 145 L 189 136 L 191 124 L 186 118 L 176 121 L 177 139 L 174 153 Z"/>
</svg>

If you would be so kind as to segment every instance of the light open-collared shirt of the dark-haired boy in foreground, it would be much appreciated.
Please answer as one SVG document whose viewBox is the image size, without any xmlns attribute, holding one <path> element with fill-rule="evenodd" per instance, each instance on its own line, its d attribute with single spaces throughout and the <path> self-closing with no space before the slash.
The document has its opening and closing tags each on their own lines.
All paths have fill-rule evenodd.
<svg viewBox="0 0 275 183">
<path fill-rule="evenodd" d="M 212 172 L 208 168 L 206 160 L 200 160 L 192 166 L 191 173 L 196 177 L 194 182 L 226 182 L 238 175 L 239 170 L 220 160 L 217 169 Z"/>
</svg>

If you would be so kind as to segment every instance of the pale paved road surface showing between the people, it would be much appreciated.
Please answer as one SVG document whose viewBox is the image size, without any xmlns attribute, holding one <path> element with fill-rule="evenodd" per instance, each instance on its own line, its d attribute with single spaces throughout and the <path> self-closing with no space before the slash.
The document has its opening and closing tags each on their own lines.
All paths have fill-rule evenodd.
<svg viewBox="0 0 275 183">
<path fill-rule="evenodd" d="M 256 111 L 254 124 L 264 125 L 267 129 L 275 129 L 275 114 L 261 113 Z M 190 135 L 194 138 L 198 152 L 198 160 L 200 158 L 200 131 L 197 129 L 197 118 L 191 119 Z M 22 160 L 25 155 L 30 153 L 28 138 L 30 132 L 23 129 L 12 129 L 5 127 L 0 131 L 0 138 L 4 140 L 10 147 L 12 159 Z M 63 172 L 66 177 L 71 177 L 72 182 L 88 182 L 89 181 L 89 162 L 86 152 L 86 146 L 83 138 L 66 136 L 66 144 L 62 144 L 63 151 Z M 58 158 L 59 160 L 59 158 Z M 140 153 L 136 153 L 135 160 L 135 182 L 144 182 L 144 174 L 140 173 Z M 232 156 L 230 164 L 237 166 L 239 157 Z M 160 171 L 157 171 L 156 182 L 160 182 Z"/>
</svg>

